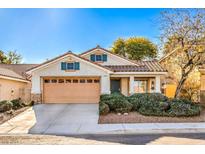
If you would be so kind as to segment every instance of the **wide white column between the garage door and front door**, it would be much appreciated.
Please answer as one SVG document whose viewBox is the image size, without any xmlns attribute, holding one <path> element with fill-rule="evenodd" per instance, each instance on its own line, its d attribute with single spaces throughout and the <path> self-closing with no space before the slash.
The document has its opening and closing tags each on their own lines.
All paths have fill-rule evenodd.
<svg viewBox="0 0 205 154">
<path fill-rule="evenodd" d="M 110 94 L 110 76 L 101 76 L 101 94 Z"/>
</svg>

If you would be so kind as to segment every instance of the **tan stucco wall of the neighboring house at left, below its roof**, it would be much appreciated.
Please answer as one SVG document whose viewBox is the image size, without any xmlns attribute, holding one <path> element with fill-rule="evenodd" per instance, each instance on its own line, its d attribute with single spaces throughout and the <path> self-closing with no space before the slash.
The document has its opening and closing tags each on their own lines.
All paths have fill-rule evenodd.
<svg viewBox="0 0 205 154">
<path fill-rule="evenodd" d="M 29 101 L 30 90 L 30 83 L 0 78 L 0 100 L 12 100 L 20 97 Z"/>
</svg>

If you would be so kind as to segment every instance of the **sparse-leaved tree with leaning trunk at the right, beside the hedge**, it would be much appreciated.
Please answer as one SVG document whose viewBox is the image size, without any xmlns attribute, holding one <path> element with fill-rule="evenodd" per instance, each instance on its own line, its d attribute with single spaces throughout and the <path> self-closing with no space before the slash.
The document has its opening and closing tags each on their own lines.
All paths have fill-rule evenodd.
<svg viewBox="0 0 205 154">
<path fill-rule="evenodd" d="M 170 9 L 162 12 L 160 23 L 164 53 L 171 53 L 179 67 L 178 98 L 189 75 L 205 61 L 205 10 Z"/>
</svg>

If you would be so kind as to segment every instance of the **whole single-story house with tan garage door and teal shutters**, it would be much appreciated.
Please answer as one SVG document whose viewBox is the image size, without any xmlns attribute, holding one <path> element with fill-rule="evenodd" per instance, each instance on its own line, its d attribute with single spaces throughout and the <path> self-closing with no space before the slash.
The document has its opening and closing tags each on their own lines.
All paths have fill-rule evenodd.
<svg viewBox="0 0 205 154">
<path fill-rule="evenodd" d="M 67 52 L 28 69 L 31 97 L 43 103 L 98 103 L 101 94 L 161 92 L 167 74 L 156 61 L 134 62 L 97 46 Z"/>
</svg>

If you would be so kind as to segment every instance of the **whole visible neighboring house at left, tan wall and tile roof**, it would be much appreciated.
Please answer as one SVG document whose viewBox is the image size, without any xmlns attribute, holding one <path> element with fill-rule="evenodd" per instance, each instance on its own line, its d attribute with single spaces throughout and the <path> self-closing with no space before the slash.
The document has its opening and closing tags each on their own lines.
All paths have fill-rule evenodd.
<svg viewBox="0 0 205 154">
<path fill-rule="evenodd" d="M 31 84 L 25 71 L 36 65 L 0 64 L 0 101 L 22 98 L 30 100 Z"/>
</svg>

